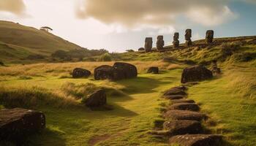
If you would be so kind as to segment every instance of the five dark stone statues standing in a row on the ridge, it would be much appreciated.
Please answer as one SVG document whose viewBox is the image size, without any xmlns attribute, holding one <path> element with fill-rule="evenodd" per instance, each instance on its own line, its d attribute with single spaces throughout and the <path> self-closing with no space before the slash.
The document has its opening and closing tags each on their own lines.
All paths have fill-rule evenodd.
<svg viewBox="0 0 256 146">
<path fill-rule="evenodd" d="M 187 29 L 185 31 L 185 47 L 190 47 L 192 46 L 192 30 Z M 179 34 L 178 32 L 174 33 L 173 36 L 173 47 L 179 47 Z M 214 31 L 213 30 L 208 30 L 206 31 L 206 43 L 211 43 L 213 42 L 214 39 Z M 153 45 L 153 38 L 152 37 L 146 37 L 145 39 L 145 51 L 150 52 L 152 50 L 152 45 Z M 163 50 L 165 45 L 164 37 L 163 36 L 158 36 L 157 37 L 157 50 Z"/>
</svg>

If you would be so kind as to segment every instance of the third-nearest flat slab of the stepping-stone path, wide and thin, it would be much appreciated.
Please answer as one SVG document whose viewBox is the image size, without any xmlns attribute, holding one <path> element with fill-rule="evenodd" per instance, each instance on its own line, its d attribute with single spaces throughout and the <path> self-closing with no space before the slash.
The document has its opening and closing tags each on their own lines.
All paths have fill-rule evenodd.
<svg viewBox="0 0 256 146">
<path fill-rule="evenodd" d="M 207 116 L 201 114 L 200 112 L 192 112 L 189 110 L 168 110 L 163 114 L 166 119 L 171 120 L 203 120 L 206 119 Z"/>
</svg>

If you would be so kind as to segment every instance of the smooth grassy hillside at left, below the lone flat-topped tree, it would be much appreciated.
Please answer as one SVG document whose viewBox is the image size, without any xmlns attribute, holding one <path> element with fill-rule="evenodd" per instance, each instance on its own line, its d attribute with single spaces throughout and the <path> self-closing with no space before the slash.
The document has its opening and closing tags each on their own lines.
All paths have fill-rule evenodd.
<svg viewBox="0 0 256 146">
<path fill-rule="evenodd" d="M 56 50 L 81 47 L 37 28 L 0 20 L 0 58 L 12 62 L 29 55 L 50 55 Z"/>
</svg>

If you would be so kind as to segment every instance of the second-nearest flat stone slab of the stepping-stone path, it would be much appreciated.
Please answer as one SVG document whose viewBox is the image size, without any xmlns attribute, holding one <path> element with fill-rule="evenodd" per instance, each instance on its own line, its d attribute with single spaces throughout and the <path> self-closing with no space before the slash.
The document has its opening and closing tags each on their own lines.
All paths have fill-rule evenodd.
<svg viewBox="0 0 256 146">
<path fill-rule="evenodd" d="M 203 127 L 197 120 L 171 120 L 164 123 L 170 136 L 179 134 L 202 134 Z"/>
</svg>

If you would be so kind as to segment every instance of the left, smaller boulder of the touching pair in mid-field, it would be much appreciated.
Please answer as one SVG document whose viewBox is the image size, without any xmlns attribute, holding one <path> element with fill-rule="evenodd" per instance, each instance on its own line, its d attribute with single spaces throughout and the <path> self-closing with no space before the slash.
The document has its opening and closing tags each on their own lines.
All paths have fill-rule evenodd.
<svg viewBox="0 0 256 146">
<path fill-rule="evenodd" d="M 103 65 L 94 69 L 94 79 L 95 80 L 115 80 L 114 69 L 112 66 Z"/>
</svg>

